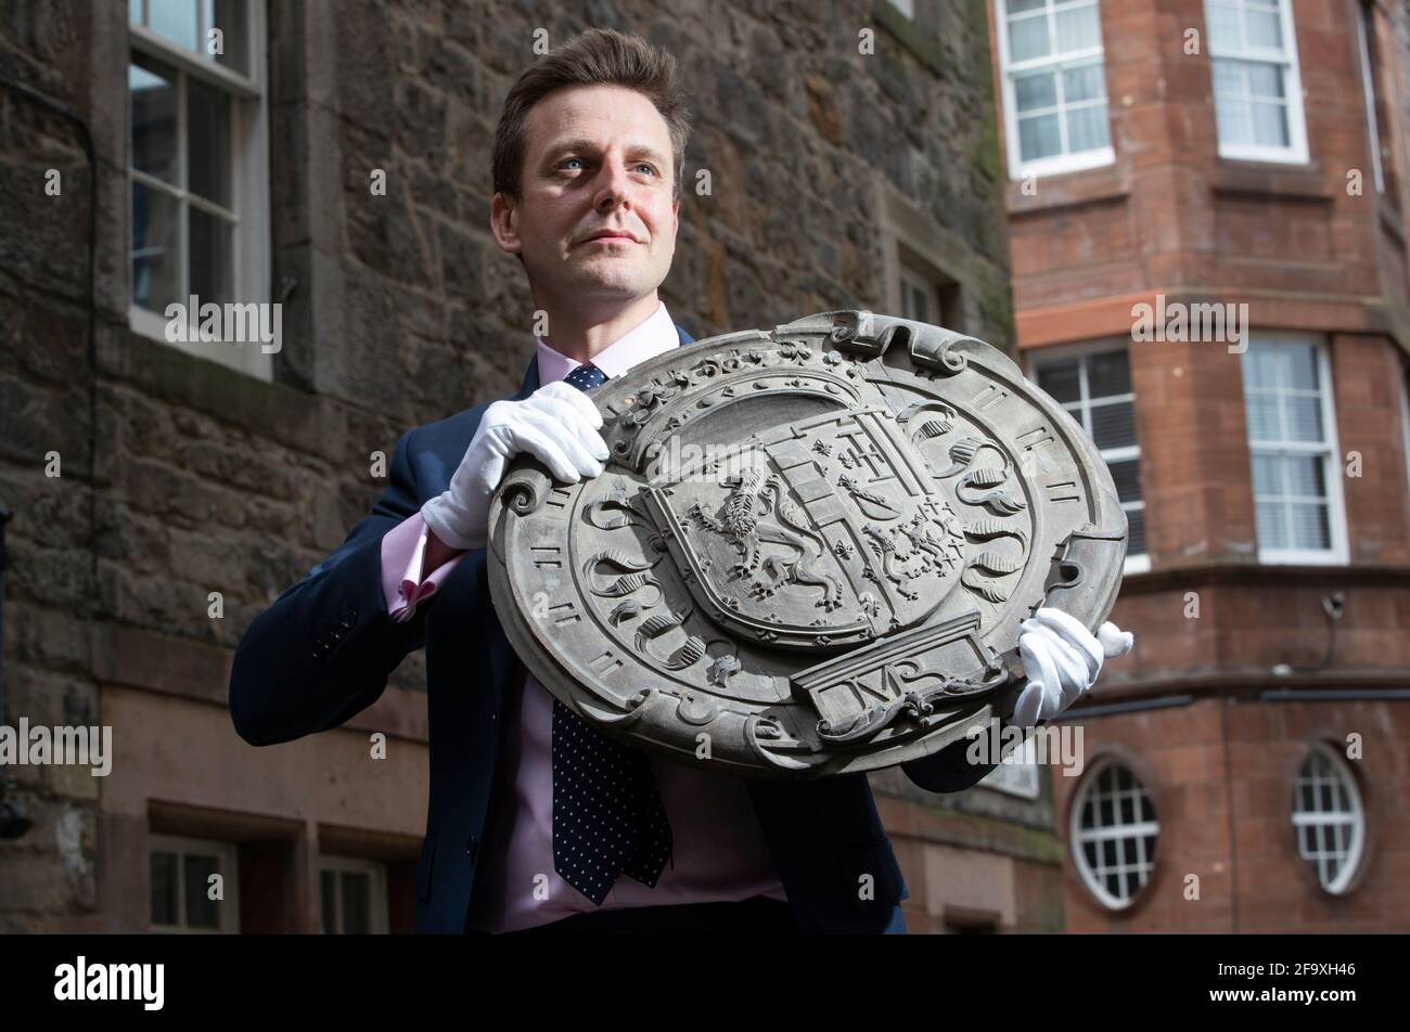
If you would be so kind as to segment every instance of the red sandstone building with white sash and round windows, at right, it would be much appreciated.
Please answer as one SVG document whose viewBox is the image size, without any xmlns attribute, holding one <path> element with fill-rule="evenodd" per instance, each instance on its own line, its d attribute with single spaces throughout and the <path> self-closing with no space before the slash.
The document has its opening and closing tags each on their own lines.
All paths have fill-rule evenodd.
<svg viewBox="0 0 1410 1032">
<path fill-rule="evenodd" d="M 990 17 L 1021 358 L 1131 520 L 1066 928 L 1410 929 L 1410 13 Z"/>
</svg>

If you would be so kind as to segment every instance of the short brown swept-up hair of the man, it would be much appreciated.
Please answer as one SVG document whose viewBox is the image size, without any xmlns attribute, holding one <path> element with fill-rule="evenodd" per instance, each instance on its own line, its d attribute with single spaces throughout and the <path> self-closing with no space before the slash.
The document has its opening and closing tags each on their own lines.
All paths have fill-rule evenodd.
<svg viewBox="0 0 1410 1032">
<path fill-rule="evenodd" d="M 678 199 L 685 175 L 691 113 L 675 72 L 675 58 L 639 35 L 625 35 L 611 28 L 578 32 L 519 76 L 505 97 L 505 109 L 495 128 L 495 154 L 491 159 L 495 192 L 519 197 L 529 111 L 533 106 L 556 90 L 589 85 L 626 86 L 656 104 L 671 133 L 675 161 L 671 196 Z"/>
</svg>

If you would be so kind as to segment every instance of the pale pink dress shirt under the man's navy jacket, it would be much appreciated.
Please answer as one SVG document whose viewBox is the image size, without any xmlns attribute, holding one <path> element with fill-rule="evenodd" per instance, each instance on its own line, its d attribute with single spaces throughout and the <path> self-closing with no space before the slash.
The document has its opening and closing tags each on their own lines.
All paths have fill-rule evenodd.
<svg viewBox="0 0 1410 1032">
<path fill-rule="evenodd" d="M 680 344 L 666 305 L 603 348 L 594 364 L 609 378 Z M 539 345 L 539 383 L 564 379 L 580 362 Z M 420 579 L 426 523 L 420 513 L 382 537 L 382 592 L 393 620 L 409 620 L 422 599 L 436 594 L 461 555 Z M 512 685 L 505 699 L 503 777 L 499 780 L 470 925 L 485 932 L 513 932 L 572 914 L 626 907 L 737 901 L 764 895 L 787 901 L 759 816 L 744 784 L 647 754 L 656 773 L 674 840 L 673 861 L 656 888 L 623 874 L 602 907 L 558 877 L 553 868 L 553 696 L 533 674 Z"/>
</svg>

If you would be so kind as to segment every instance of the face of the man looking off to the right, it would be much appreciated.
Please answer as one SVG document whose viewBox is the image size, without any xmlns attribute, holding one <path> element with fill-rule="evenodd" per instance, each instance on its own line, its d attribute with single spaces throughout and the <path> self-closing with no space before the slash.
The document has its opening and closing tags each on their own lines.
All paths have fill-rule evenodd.
<svg viewBox="0 0 1410 1032">
<path fill-rule="evenodd" d="M 671 134 L 656 106 L 622 86 L 571 86 L 529 111 L 519 199 L 496 193 L 502 250 L 523 255 L 550 297 L 633 300 L 671 269 L 680 202 Z M 626 234 L 592 240 L 601 233 Z"/>
</svg>

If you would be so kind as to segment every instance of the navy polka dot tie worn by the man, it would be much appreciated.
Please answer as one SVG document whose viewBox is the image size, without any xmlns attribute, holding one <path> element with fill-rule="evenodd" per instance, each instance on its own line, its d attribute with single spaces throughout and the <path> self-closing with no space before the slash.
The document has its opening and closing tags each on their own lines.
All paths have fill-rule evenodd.
<svg viewBox="0 0 1410 1032">
<path fill-rule="evenodd" d="M 591 391 L 592 362 L 564 382 Z M 671 857 L 671 825 L 651 763 L 553 701 L 553 868 L 601 907 L 619 874 L 656 887 Z"/>
</svg>

